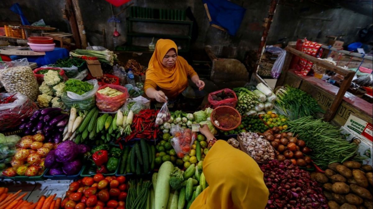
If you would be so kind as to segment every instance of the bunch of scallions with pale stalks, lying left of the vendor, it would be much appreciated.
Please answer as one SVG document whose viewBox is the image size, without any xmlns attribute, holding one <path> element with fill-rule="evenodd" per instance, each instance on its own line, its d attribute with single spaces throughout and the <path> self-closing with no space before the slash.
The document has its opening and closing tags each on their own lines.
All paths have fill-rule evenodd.
<svg viewBox="0 0 373 209">
<path fill-rule="evenodd" d="M 70 55 L 73 57 L 97 57 L 99 61 L 105 62 L 109 65 L 114 64 L 114 60 L 117 60 L 117 55 L 113 51 L 104 50 L 104 51 L 95 51 L 90 49 L 75 49 L 74 52 L 70 52 Z"/>
</svg>

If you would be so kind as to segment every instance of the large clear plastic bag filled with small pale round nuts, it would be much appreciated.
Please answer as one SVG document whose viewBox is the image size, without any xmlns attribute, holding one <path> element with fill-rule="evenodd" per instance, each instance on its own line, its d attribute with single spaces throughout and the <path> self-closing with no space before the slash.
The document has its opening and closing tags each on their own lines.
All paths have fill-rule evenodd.
<svg viewBox="0 0 373 209">
<path fill-rule="evenodd" d="M 0 81 L 8 93 L 22 93 L 35 101 L 39 85 L 26 58 L 0 63 Z"/>
</svg>

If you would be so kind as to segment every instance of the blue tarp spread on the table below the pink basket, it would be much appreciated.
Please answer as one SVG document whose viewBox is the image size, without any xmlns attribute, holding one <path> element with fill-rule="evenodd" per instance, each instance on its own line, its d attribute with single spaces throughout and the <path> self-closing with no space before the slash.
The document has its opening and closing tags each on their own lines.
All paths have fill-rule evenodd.
<svg viewBox="0 0 373 209">
<path fill-rule="evenodd" d="M 49 65 L 56 62 L 58 59 L 69 57 L 69 50 L 65 48 L 54 48 L 53 51 L 46 52 L 46 55 L 43 56 L 18 56 L 12 55 L 10 58 L 12 60 L 18 60 L 22 58 L 27 58 L 28 62 L 36 62 L 38 67 L 43 65 Z"/>
</svg>

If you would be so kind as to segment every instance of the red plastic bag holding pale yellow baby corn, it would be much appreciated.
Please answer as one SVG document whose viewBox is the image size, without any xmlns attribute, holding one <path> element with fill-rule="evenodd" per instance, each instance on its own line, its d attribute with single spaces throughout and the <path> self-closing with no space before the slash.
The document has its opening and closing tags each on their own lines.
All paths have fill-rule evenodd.
<svg viewBox="0 0 373 209">
<path fill-rule="evenodd" d="M 107 87 L 118 90 L 122 92 L 122 94 L 118 94 L 116 96 L 107 96 L 105 94 L 102 94 L 100 90 L 106 89 Z M 96 105 L 98 109 L 102 111 L 115 112 L 119 109 L 119 107 L 121 107 L 126 102 L 128 97 L 129 94 L 126 87 L 113 84 L 106 84 L 98 88 L 96 92 Z"/>
</svg>

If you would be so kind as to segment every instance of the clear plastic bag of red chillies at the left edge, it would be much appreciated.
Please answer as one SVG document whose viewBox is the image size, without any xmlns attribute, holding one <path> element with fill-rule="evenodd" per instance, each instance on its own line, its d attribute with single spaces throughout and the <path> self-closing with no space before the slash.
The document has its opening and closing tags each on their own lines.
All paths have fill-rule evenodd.
<svg viewBox="0 0 373 209">
<path fill-rule="evenodd" d="M 11 93 L 0 93 L 0 100 L 12 96 Z M 14 102 L 0 104 L 0 131 L 14 128 L 38 109 L 37 105 L 23 94 L 15 94 Z"/>
</svg>

